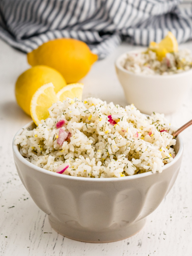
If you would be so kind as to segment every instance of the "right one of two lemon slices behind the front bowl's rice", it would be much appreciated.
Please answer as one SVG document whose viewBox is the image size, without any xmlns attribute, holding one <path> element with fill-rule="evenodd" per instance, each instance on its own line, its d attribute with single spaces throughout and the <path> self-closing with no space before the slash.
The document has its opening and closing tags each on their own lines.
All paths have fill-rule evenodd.
<svg viewBox="0 0 192 256">
<path fill-rule="evenodd" d="M 75 97 L 82 100 L 83 86 L 80 83 L 68 84 L 57 93 L 57 98 L 60 101 L 66 100 L 67 98 L 74 99 Z"/>
</svg>

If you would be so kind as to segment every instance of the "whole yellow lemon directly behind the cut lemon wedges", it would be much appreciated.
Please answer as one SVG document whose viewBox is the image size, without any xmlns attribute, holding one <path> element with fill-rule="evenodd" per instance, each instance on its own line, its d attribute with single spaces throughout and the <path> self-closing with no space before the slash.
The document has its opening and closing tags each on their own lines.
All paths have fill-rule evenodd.
<svg viewBox="0 0 192 256">
<path fill-rule="evenodd" d="M 55 69 L 35 66 L 23 72 L 15 84 L 15 96 L 19 106 L 30 115 L 30 102 L 36 90 L 44 84 L 52 83 L 57 93 L 66 86 L 63 76 Z"/>
</svg>

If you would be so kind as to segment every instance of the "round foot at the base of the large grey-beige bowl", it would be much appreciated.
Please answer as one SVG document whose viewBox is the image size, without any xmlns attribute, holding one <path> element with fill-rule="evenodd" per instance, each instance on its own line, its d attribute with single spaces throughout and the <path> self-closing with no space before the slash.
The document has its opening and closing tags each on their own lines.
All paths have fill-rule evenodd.
<svg viewBox="0 0 192 256">
<path fill-rule="evenodd" d="M 90 231 L 89 229 L 85 230 L 83 227 L 82 230 L 79 230 L 60 222 L 50 215 L 49 222 L 56 232 L 70 239 L 87 243 L 109 243 L 135 235 L 144 227 L 146 219 L 139 220 L 134 222 L 132 225 L 125 226 L 117 230 L 111 230 L 108 228 L 108 231 L 106 231 L 106 229 L 105 231 Z"/>
</svg>

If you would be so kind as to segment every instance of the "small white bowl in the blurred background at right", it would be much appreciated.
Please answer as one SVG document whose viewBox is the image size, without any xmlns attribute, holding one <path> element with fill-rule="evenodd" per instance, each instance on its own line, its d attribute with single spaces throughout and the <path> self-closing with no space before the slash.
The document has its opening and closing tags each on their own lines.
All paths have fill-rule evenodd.
<svg viewBox="0 0 192 256">
<path fill-rule="evenodd" d="M 170 114 L 179 109 L 192 85 L 192 69 L 167 76 L 134 74 L 123 68 L 127 53 L 130 52 L 117 58 L 115 67 L 128 103 L 149 115 L 153 111 Z"/>
</svg>

